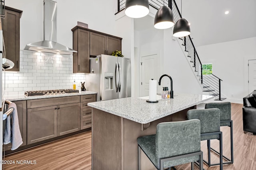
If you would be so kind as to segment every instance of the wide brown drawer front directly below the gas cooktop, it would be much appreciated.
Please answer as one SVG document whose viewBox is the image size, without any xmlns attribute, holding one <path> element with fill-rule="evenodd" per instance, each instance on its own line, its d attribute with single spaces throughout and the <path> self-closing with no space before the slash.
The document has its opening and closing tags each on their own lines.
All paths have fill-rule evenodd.
<svg viewBox="0 0 256 170">
<path fill-rule="evenodd" d="M 80 96 L 45 98 L 45 99 L 28 100 L 27 107 L 28 109 L 31 109 L 36 107 L 55 106 L 60 104 L 71 104 L 71 103 L 78 103 L 78 102 L 80 102 Z"/>
</svg>

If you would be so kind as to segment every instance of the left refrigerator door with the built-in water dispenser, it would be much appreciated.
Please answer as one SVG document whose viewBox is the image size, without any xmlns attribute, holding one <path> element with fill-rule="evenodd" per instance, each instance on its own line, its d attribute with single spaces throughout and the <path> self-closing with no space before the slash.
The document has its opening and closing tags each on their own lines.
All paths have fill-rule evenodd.
<svg viewBox="0 0 256 170">
<path fill-rule="evenodd" d="M 100 57 L 100 100 L 118 98 L 118 58 L 110 55 Z"/>
</svg>

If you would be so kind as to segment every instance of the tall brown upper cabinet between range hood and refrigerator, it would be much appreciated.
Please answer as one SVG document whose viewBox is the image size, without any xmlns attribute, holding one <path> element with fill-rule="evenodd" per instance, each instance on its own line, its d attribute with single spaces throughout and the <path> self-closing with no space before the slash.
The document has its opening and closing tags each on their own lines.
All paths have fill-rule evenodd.
<svg viewBox="0 0 256 170">
<path fill-rule="evenodd" d="M 73 73 L 90 72 L 90 31 L 75 27 L 73 31 Z"/>
</svg>

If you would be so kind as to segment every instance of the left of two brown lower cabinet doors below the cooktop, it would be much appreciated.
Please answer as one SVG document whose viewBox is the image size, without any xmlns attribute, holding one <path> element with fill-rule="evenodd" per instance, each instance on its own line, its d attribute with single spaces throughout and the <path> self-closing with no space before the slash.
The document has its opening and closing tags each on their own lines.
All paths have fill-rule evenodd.
<svg viewBox="0 0 256 170">
<path fill-rule="evenodd" d="M 28 144 L 57 137 L 57 106 L 27 110 Z"/>
</svg>

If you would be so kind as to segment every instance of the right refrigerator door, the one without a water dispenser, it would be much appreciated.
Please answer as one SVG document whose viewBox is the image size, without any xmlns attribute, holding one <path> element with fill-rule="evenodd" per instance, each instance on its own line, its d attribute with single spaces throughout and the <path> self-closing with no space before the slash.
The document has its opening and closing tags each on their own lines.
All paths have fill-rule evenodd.
<svg viewBox="0 0 256 170">
<path fill-rule="evenodd" d="M 131 97 L 131 59 L 118 57 L 118 98 Z"/>
</svg>

